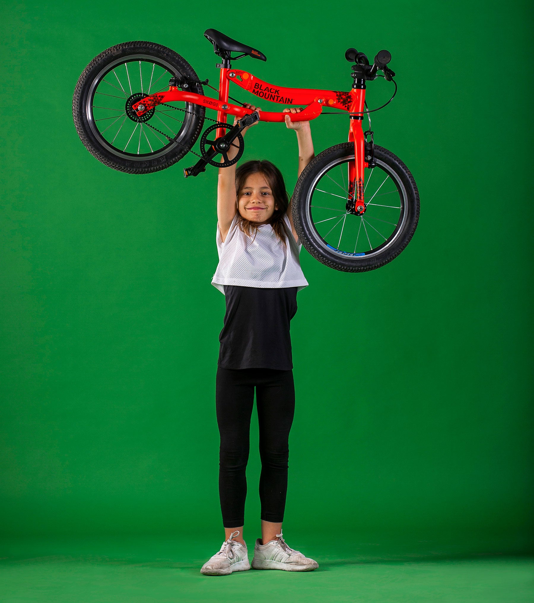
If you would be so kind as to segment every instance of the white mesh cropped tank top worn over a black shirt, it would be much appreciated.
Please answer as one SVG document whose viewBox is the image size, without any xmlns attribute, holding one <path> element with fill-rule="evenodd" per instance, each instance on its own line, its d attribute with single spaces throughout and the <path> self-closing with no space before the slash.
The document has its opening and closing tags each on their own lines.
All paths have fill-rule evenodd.
<svg viewBox="0 0 534 603">
<path fill-rule="evenodd" d="M 230 224 L 226 239 L 221 241 L 217 224 L 219 263 L 211 284 L 224 294 L 223 285 L 281 289 L 308 286 L 300 268 L 297 244 L 291 223 L 284 215 L 285 245 L 276 237 L 270 224 L 258 226 L 256 236 L 248 237 L 237 224 L 237 214 Z"/>
</svg>

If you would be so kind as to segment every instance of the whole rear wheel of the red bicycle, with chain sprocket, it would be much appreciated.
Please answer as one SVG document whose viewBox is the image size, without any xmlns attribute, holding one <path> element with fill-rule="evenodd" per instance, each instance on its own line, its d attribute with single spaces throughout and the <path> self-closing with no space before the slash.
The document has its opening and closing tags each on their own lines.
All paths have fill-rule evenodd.
<svg viewBox="0 0 534 603">
<path fill-rule="evenodd" d="M 126 42 L 95 57 L 80 75 L 72 113 L 81 142 L 99 161 L 129 174 L 168 168 L 188 153 L 202 130 L 205 109 L 166 103 L 138 117 L 132 104 L 168 90 L 169 80 L 198 80 L 179 54 L 152 42 Z M 200 84 L 188 90 L 203 94 Z"/>
</svg>

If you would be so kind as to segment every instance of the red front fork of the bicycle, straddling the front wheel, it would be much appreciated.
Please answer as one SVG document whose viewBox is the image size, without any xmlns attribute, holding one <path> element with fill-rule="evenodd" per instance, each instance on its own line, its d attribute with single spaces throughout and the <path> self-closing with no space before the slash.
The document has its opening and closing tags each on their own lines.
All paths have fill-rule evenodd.
<svg viewBox="0 0 534 603">
<path fill-rule="evenodd" d="M 363 198 L 364 169 L 368 166 L 365 161 L 365 137 L 361 124 L 365 106 L 365 81 L 355 80 L 352 87 L 351 125 L 349 142 L 354 142 L 354 161 L 349 162 L 349 189 L 347 191 L 346 210 L 361 216 L 366 206 Z"/>
</svg>

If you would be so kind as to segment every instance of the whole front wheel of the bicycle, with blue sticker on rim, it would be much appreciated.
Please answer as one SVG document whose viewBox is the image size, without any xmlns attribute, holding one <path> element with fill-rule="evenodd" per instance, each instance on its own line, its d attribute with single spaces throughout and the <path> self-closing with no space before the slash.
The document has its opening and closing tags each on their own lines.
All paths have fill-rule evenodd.
<svg viewBox="0 0 534 603">
<path fill-rule="evenodd" d="M 348 207 L 348 164 L 354 144 L 320 153 L 300 174 L 292 213 L 299 239 L 319 262 L 343 272 L 375 270 L 408 245 L 419 219 L 419 192 L 408 168 L 375 145 L 375 167 L 364 174 L 365 212 Z"/>
</svg>

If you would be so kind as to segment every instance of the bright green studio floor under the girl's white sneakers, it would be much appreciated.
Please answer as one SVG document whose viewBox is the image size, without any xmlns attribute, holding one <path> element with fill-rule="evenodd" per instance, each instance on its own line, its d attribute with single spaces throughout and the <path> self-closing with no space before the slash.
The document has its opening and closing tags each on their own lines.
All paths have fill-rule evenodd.
<svg viewBox="0 0 534 603">
<path fill-rule="evenodd" d="M 306 541 L 303 541 L 306 540 Z M 198 538 L 4 540 L 1 603 L 287 601 L 522 603 L 534 601 L 528 557 L 466 557 L 454 546 L 393 546 L 300 538 L 320 567 L 310 573 L 202 576 L 214 541 Z M 301 546 L 305 545 L 305 546 Z M 217 546 L 220 546 L 218 543 Z"/>
</svg>

